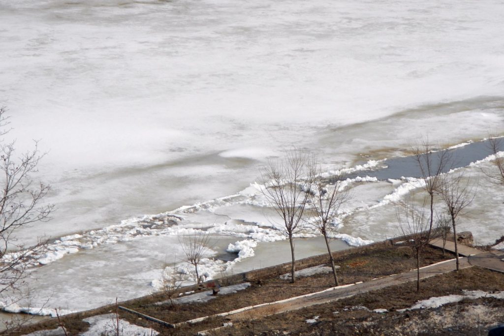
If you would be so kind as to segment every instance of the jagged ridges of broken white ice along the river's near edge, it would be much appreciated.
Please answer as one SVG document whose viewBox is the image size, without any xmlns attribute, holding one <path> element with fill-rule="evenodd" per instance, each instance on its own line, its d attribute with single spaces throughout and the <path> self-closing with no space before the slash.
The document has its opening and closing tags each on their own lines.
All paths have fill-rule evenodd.
<svg viewBox="0 0 504 336">
<path fill-rule="evenodd" d="M 504 153 L 500 153 L 503 155 Z M 458 169 L 476 169 L 475 173 L 480 171 L 482 165 L 486 165 L 493 159 L 488 156 L 482 160 L 478 160 L 467 167 Z M 386 161 L 384 161 L 386 162 Z M 365 165 L 360 165 L 348 169 L 348 171 L 366 172 L 369 168 L 375 168 L 383 163 L 370 161 Z M 452 173 L 453 170 L 449 173 Z M 341 173 L 341 171 L 332 171 L 325 174 L 325 177 L 331 177 Z M 397 180 L 389 180 L 380 182 L 376 177 L 361 177 L 357 176 L 353 179 L 347 179 L 345 185 L 353 187 L 357 190 L 363 188 L 362 195 L 367 193 L 367 186 L 373 189 L 385 188 L 390 190 L 381 194 L 380 199 L 376 199 L 367 205 L 362 206 L 360 203 L 350 205 L 342 209 L 339 223 L 335 223 L 340 233 L 333 235 L 333 238 L 345 241 L 349 246 L 361 246 L 371 243 L 373 240 L 363 239 L 358 234 L 349 234 L 344 231 L 349 224 L 343 224 L 346 218 L 353 217 L 355 214 L 369 213 L 379 209 L 388 209 L 398 201 L 403 199 L 412 190 L 421 188 L 423 182 L 416 178 L 401 178 Z M 375 185 L 373 187 L 373 185 Z M 38 271 L 40 267 L 63 259 L 69 255 L 79 254 L 79 251 L 100 249 L 102 246 L 111 246 L 118 243 L 135 243 L 149 237 L 179 237 L 183 235 L 193 235 L 199 232 L 206 232 L 211 235 L 235 238 L 236 240 L 227 244 L 223 250 L 232 253 L 235 257 L 231 260 L 224 261 L 215 259 L 212 255 L 216 255 L 217 251 L 210 249 L 207 257 L 202 261 L 200 274 L 205 275 L 208 279 L 216 278 L 222 274 L 226 274 L 229 270 L 236 268 L 236 265 L 242 263 L 245 259 L 254 258 L 258 243 L 268 244 L 271 242 L 284 241 L 286 237 L 281 233 L 281 230 L 274 222 L 268 222 L 267 218 L 270 215 L 263 213 L 258 216 L 258 209 L 268 211 L 268 204 L 263 199 L 261 188 L 263 186 L 253 183 L 248 188 L 241 190 L 238 193 L 209 200 L 204 203 L 198 203 L 192 206 L 184 206 L 173 211 L 161 213 L 158 215 L 142 216 L 139 218 L 131 218 L 123 220 L 116 225 L 110 225 L 100 230 L 90 230 L 87 232 L 76 233 L 61 237 L 49 244 L 42 255 L 34 257 L 31 266 L 35 267 L 34 271 Z M 392 187 L 392 188 L 391 188 Z M 476 199 L 478 201 L 478 199 Z M 239 214 L 240 217 L 236 215 Z M 266 216 L 265 216 L 266 215 Z M 215 221 L 215 217 L 222 218 L 219 222 Z M 211 222 L 214 219 L 214 222 Z M 475 236 L 482 241 L 490 240 L 490 237 L 482 235 L 477 229 Z M 301 231 L 296 235 L 297 238 L 316 237 L 318 233 L 309 225 L 304 225 Z M 377 236 L 375 240 L 381 240 L 386 237 Z M 485 238 L 486 237 L 486 238 Z M 266 245 L 267 246 L 267 245 Z M 8 257 L 8 255 L 6 255 Z M 38 266 L 38 267 L 37 267 Z M 237 268 L 238 270 L 240 267 Z M 184 275 L 184 283 L 192 284 L 196 282 L 192 275 L 191 267 L 183 262 L 175 262 L 164 268 L 162 273 L 172 274 L 179 273 Z M 152 278 L 151 278 L 152 279 Z M 151 290 L 159 290 L 161 283 L 159 279 L 151 280 Z M 8 311 L 19 311 L 37 313 L 34 308 L 23 308 L 22 306 L 10 306 L 9 303 L 3 305 Z M 39 310 L 41 315 L 52 314 L 44 309 Z"/>
</svg>

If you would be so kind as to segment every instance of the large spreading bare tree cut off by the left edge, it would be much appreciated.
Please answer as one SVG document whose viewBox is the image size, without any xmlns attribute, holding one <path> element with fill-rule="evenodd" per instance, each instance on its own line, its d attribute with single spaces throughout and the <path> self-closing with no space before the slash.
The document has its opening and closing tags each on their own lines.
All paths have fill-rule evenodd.
<svg viewBox="0 0 504 336">
<path fill-rule="evenodd" d="M 0 135 L 8 125 L 6 109 L 0 108 Z M 32 175 L 43 154 L 37 142 L 28 152 L 17 154 L 15 142 L 0 141 L 0 297 L 7 291 L 23 287 L 28 276 L 26 267 L 43 246 L 25 246 L 17 242 L 16 232 L 37 222 L 49 220 L 53 205 L 44 205 L 49 186 L 37 183 Z"/>
</svg>

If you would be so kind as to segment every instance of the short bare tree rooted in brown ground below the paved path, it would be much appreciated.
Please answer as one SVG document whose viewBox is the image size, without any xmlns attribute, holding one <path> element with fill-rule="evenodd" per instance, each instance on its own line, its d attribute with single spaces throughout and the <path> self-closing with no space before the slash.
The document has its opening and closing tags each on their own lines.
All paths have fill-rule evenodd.
<svg viewBox="0 0 504 336">
<path fill-rule="evenodd" d="M 416 258 L 416 291 L 420 291 L 420 258 L 423 249 L 429 243 L 429 218 L 425 216 L 425 200 L 420 208 L 413 206 L 414 199 L 403 203 L 401 212 L 396 209 L 399 228 Z"/>
</svg>

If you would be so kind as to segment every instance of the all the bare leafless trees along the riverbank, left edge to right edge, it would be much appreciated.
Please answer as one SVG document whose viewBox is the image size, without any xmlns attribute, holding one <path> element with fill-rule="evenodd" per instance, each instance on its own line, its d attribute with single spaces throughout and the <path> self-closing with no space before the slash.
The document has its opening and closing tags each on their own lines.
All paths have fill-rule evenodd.
<svg viewBox="0 0 504 336">
<path fill-rule="evenodd" d="M 6 109 L 0 107 L 0 137 L 8 132 Z M 504 185 L 504 158 L 498 156 L 502 143 L 499 138 L 489 140 L 494 155 L 495 170 L 483 171 L 490 180 Z M 430 239 L 434 223 L 446 228 L 451 224 L 454 234 L 459 268 L 457 247 L 457 219 L 474 198 L 476 187 L 470 178 L 460 173 L 445 174 L 452 164 L 449 151 L 435 151 L 427 141 L 414 148 L 414 155 L 425 182 L 427 198 L 421 206 L 410 201 L 398 211 L 399 226 L 403 233 L 412 235 L 409 240 L 417 258 L 419 268 L 421 251 Z M 35 222 L 47 221 L 53 205 L 44 205 L 43 198 L 49 186 L 36 183 L 32 174 L 43 154 L 40 154 L 35 142 L 31 151 L 16 156 L 15 142 L 3 143 L 0 139 L 0 298 L 9 290 L 15 290 L 23 284 L 26 276 L 27 261 L 34 257 L 43 246 L 24 246 L 16 243 L 16 232 Z M 339 285 L 338 275 L 330 246 L 334 222 L 341 206 L 350 199 L 348 188 L 343 184 L 344 176 L 333 177 L 328 181 L 323 177 L 317 158 L 300 149 L 286 153 L 285 158 L 270 161 L 262 171 L 263 194 L 281 218 L 281 227 L 287 236 L 291 249 L 291 281 L 295 282 L 294 236 L 301 225 L 309 224 L 324 237 L 335 285 Z M 331 182 L 331 183 L 329 183 Z M 439 202 L 440 201 L 440 202 Z M 438 203 L 443 206 L 439 211 Z M 428 209 L 428 212 L 426 211 Z M 437 210 L 437 213 L 436 213 Z M 446 230 L 445 230 L 446 231 Z M 426 232 L 426 235 L 423 234 Z M 420 234 L 422 233 L 422 234 Z M 496 240 L 496 243 L 504 237 Z M 183 244 L 185 259 L 195 266 L 197 281 L 200 281 L 198 263 L 201 261 L 208 237 L 195 237 Z M 17 253 L 6 255 L 8 250 Z M 419 286 L 419 283 L 418 283 Z M 418 287 L 419 288 L 419 287 Z"/>
</svg>

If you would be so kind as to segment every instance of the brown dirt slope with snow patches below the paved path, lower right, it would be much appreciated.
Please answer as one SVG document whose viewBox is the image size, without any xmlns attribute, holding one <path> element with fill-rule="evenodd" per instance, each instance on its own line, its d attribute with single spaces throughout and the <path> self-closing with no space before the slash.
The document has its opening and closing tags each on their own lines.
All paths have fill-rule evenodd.
<svg viewBox="0 0 504 336">
<path fill-rule="evenodd" d="M 504 274 L 480 267 L 422 281 L 421 292 L 415 283 L 389 287 L 349 299 L 235 323 L 212 335 L 486 335 L 490 327 L 504 322 L 502 300 L 464 299 L 434 309 L 399 312 L 416 301 L 461 290 L 504 290 Z M 386 313 L 372 312 L 384 308 Z M 314 323 L 307 319 L 319 316 Z"/>
</svg>

